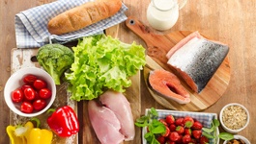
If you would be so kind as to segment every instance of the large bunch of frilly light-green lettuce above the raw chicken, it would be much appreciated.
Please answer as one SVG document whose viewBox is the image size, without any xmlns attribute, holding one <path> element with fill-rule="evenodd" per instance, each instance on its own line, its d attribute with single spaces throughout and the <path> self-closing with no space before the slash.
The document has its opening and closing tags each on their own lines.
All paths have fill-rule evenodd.
<svg viewBox="0 0 256 144">
<path fill-rule="evenodd" d="M 129 77 L 145 65 L 141 45 L 123 43 L 111 36 L 89 36 L 72 47 L 74 62 L 66 73 L 71 100 L 92 100 L 106 89 L 124 92 Z"/>
</svg>

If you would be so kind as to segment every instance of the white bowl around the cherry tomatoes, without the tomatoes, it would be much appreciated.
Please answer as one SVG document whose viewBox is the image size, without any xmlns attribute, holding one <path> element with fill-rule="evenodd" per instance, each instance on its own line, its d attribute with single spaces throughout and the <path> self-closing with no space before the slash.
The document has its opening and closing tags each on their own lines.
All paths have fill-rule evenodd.
<svg viewBox="0 0 256 144">
<path fill-rule="evenodd" d="M 47 102 L 46 107 L 40 111 L 35 111 L 32 113 L 21 112 L 21 110 L 18 108 L 18 105 L 14 104 L 11 98 L 11 94 L 14 91 L 14 89 L 20 87 L 23 84 L 22 78 L 28 74 L 33 74 L 38 78 L 44 80 L 47 84 L 47 88 L 49 88 L 52 92 L 51 98 L 49 100 L 46 100 Z M 4 96 L 5 96 L 5 101 L 7 106 L 11 108 L 11 110 L 15 114 L 18 114 L 24 117 L 34 117 L 42 114 L 44 111 L 46 111 L 48 108 L 51 107 L 56 97 L 56 85 L 53 79 L 51 78 L 51 76 L 41 68 L 37 68 L 37 67 L 21 68 L 17 70 L 5 84 Z"/>
</svg>

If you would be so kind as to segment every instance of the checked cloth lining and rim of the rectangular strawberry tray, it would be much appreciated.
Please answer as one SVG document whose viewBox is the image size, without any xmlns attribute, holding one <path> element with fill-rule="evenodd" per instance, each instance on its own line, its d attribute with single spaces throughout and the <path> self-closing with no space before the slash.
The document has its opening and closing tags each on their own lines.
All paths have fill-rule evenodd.
<svg viewBox="0 0 256 144">
<path fill-rule="evenodd" d="M 150 108 L 146 108 L 145 115 L 147 115 Z M 165 118 L 166 115 L 172 114 L 175 117 L 185 117 L 186 115 L 191 116 L 192 118 L 196 119 L 197 121 L 201 122 L 204 128 L 210 128 L 212 125 L 213 119 L 217 119 L 216 113 L 207 113 L 207 112 L 190 112 L 190 111 L 178 111 L 178 110 L 165 110 L 165 109 L 156 109 L 158 113 L 158 118 Z M 144 134 L 147 132 L 146 128 L 142 129 L 142 143 L 147 144 L 146 139 L 144 138 Z M 216 129 L 216 135 L 219 134 L 218 128 Z M 210 139 L 210 144 L 218 144 L 219 138 Z"/>
</svg>

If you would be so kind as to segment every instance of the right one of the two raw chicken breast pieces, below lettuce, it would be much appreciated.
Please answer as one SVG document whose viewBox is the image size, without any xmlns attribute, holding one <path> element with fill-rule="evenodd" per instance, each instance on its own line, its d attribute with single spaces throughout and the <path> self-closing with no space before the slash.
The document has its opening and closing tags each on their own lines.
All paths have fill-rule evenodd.
<svg viewBox="0 0 256 144">
<path fill-rule="evenodd" d="M 100 102 L 116 114 L 125 140 L 132 140 L 135 135 L 134 121 L 126 96 L 123 93 L 108 90 L 100 96 Z"/>
</svg>

